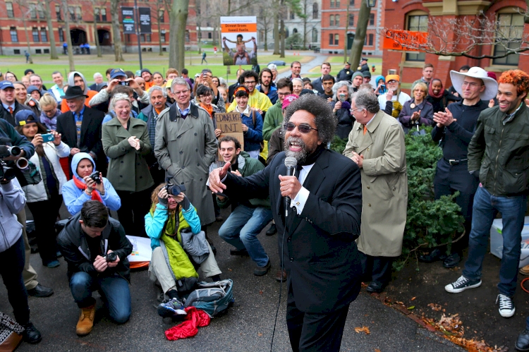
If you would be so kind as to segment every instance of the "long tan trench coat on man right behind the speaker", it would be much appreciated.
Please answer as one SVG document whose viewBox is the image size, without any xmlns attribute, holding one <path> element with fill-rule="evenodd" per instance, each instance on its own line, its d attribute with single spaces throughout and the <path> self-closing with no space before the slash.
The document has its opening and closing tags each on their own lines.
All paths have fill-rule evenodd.
<svg viewBox="0 0 529 352">
<path fill-rule="evenodd" d="M 367 125 L 355 122 L 343 154 L 364 156 L 362 176 L 362 224 L 358 250 L 374 257 L 401 255 L 406 210 L 408 175 L 406 147 L 399 123 L 379 111 Z"/>
</svg>

